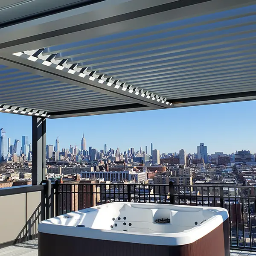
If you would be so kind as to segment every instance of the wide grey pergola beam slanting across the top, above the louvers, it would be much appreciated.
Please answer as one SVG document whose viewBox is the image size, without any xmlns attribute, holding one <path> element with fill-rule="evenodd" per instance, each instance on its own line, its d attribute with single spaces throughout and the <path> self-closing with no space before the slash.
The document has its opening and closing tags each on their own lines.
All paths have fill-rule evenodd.
<svg viewBox="0 0 256 256">
<path fill-rule="evenodd" d="M 0 51 L 20 52 L 113 35 L 254 4 L 254 0 L 115 0 L 0 29 Z"/>
</svg>

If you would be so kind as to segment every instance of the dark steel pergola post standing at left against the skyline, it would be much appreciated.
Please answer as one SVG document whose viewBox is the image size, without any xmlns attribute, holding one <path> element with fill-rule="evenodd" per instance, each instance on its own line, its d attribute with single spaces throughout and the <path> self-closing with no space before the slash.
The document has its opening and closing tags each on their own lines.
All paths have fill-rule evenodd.
<svg viewBox="0 0 256 256">
<path fill-rule="evenodd" d="M 46 118 L 32 116 L 32 185 L 45 180 Z"/>
</svg>

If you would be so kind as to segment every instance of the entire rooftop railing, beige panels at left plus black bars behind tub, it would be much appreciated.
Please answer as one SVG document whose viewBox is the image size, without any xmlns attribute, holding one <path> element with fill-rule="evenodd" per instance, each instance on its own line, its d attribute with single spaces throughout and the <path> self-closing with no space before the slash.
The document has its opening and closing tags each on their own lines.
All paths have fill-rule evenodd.
<svg viewBox="0 0 256 256">
<path fill-rule="evenodd" d="M 1 244 L 37 236 L 44 219 L 108 202 L 224 207 L 230 215 L 230 246 L 256 250 L 256 187 L 158 184 L 50 183 L 0 189 Z"/>
</svg>

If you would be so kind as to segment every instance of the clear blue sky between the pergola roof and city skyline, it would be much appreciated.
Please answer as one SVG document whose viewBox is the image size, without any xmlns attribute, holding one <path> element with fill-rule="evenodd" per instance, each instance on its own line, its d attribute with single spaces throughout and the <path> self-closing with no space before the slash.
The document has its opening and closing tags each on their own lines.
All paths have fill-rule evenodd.
<svg viewBox="0 0 256 256">
<path fill-rule="evenodd" d="M 256 101 L 141 111 L 99 116 L 47 119 L 47 144 L 55 145 L 58 136 L 61 148 L 78 145 L 84 132 L 87 149 L 119 147 L 121 151 L 153 143 L 160 153 L 178 152 L 184 148 L 193 153 L 199 143 L 207 145 L 208 154 L 215 151 L 232 153 L 248 149 L 256 153 Z M 31 117 L 0 113 L 0 128 L 6 137 L 29 136 Z"/>
</svg>

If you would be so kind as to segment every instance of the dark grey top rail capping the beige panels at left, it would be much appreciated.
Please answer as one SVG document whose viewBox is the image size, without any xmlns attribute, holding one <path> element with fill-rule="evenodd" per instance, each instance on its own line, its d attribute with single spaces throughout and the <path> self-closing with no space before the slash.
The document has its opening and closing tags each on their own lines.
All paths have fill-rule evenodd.
<svg viewBox="0 0 256 256">
<path fill-rule="evenodd" d="M 0 196 L 5 195 L 17 195 L 29 192 L 38 192 L 43 191 L 44 185 L 24 185 L 24 186 L 14 186 L 14 187 L 6 187 L 0 189 Z"/>
</svg>

